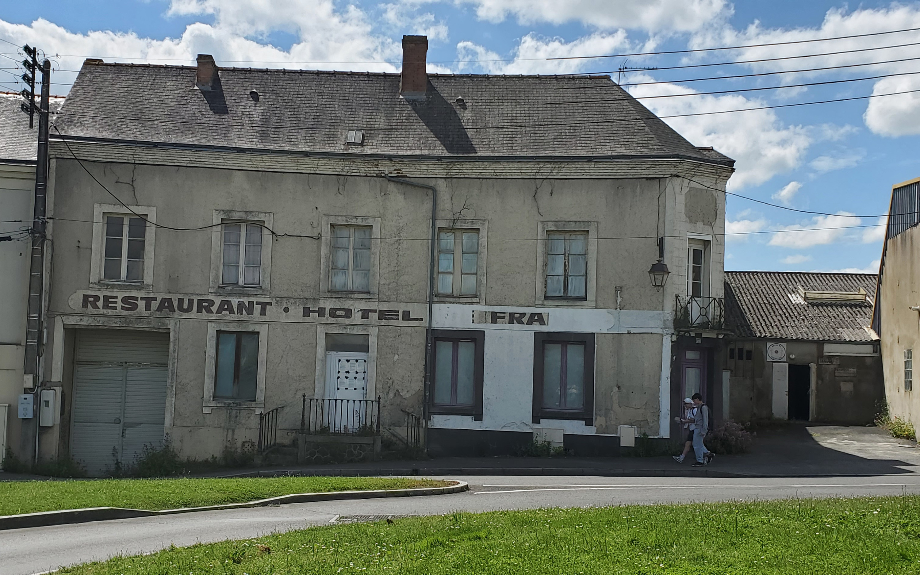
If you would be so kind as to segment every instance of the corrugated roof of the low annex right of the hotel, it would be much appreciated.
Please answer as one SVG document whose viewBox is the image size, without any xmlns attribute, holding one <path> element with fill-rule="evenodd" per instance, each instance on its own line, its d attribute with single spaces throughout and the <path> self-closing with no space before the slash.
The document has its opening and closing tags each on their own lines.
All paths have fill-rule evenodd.
<svg viewBox="0 0 920 575">
<path fill-rule="evenodd" d="M 875 300 L 875 274 L 726 271 L 725 313 L 739 338 L 871 341 L 865 328 Z M 868 293 L 867 303 L 805 302 L 799 287 Z"/>
</svg>

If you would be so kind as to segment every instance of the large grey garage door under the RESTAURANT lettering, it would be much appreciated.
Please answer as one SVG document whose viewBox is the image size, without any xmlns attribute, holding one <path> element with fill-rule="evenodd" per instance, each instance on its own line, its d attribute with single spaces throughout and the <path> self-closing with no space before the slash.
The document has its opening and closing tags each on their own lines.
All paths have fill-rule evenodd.
<svg viewBox="0 0 920 575">
<path fill-rule="evenodd" d="M 163 446 L 169 334 L 77 332 L 71 454 L 90 475 L 132 466 L 144 446 Z"/>
</svg>

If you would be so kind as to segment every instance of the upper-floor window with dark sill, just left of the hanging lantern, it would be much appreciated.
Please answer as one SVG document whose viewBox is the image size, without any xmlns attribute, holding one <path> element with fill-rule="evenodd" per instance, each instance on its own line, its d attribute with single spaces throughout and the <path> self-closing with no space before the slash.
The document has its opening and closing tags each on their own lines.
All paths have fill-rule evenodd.
<svg viewBox="0 0 920 575">
<path fill-rule="evenodd" d="M 546 232 L 546 299 L 585 299 L 588 232 Z"/>
</svg>

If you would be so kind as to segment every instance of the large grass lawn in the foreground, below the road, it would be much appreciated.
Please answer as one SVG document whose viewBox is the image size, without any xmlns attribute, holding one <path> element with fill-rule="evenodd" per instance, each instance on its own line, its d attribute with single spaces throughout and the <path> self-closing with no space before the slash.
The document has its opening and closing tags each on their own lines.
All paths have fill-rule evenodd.
<svg viewBox="0 0 920 575">
<path fill-rule="evenodd" d="M 63 569 L 220 573 L 920 572 L 920 498 L 607 507 L 316 527 Z"/>
</svg>

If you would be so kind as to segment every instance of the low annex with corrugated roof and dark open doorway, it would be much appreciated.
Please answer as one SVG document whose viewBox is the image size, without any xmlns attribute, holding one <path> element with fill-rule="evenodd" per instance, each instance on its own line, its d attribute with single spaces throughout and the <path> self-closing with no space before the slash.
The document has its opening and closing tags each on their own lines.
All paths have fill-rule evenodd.
<svg viewBox="0 0 920 575">
<path fill-rule="evenodd" d="M 877 276 L 725 272 L 723 416 L 867 425 L 885 397 Z"/>
</svg>

